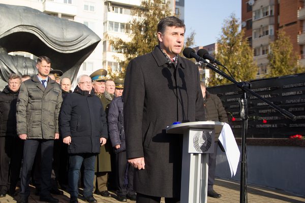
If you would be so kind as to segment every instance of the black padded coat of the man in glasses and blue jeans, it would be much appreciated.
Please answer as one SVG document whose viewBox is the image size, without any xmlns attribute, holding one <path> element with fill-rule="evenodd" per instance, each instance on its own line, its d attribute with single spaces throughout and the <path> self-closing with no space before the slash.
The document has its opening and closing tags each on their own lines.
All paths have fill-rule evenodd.
<svg viewBox="0 0 305 203">
<path fill-rule="evenodd" d="M 108 139 L 106 113 L 94 91 L 82 91 L 76 86 L 67 94 L 59 113 L 62 138 L 71 136 L 69 154 L 100 153 L 100 138 Z"/>
</svg>

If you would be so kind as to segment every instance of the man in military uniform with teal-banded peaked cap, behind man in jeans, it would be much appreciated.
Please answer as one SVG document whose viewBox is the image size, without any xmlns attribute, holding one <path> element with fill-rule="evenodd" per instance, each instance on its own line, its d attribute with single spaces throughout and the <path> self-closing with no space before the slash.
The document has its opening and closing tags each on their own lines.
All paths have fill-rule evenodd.
<svg viewBox="0 0 305 203">
<path fill-rule="evenodd" d="M 105 83 L 106 83 L 107 71 L 104 69 L 99 69 L 90 75 L 90 78 L 93 82 L 93 88 L 95 94 L 101 99 L 104 110 L 106 104 L 103 102 L 104 93 L 105 93 Z M 113 98 L 113 97 L 112 97 Z M 106 112 L 107 116 L 107 112 Z M 111 194 L 108 192 L 107 181 L 108 181 L 108 172 L 111 172 L 111 162 L 110 162 L 110 143 L 107 142 L 106 145 L 101 146 L 100 154 L 97 156 L 96 161 L 96 178 L 94 179 L 94 191 L 96 190 L 96 181 L 97 181 L 97 191 L 104 197 L 111 197 Z"/>
</svg>

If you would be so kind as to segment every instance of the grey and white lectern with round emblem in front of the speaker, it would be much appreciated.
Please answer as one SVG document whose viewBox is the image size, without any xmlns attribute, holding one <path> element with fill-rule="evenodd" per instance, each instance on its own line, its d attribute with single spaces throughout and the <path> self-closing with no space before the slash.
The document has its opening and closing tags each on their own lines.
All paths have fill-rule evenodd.
<svg viewBox="0 0 305 203">
<path fill-rule="evenodd" d="M 207 201 L 208 153 L 214 153 L 215 135 L 224 123 L 198 121 L 179 123 L 166 128 L 167 133 L 183 134 L 181 203 Z"/>
</svg>

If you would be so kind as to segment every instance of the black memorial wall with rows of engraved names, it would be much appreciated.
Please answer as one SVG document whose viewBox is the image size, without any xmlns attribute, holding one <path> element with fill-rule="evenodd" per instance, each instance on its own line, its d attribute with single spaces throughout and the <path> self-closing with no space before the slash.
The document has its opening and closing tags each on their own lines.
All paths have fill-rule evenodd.
<svg viewBox="0 0 305 203">
<path fill-rule="evenodd" d="M 251 89 L 280 108 L 296 116 L 292 121 L 262 100 L 248 95 L 248 138 L 289 138 L 295 134 L 305 136 L 305 74 L 250 81 Z M 235 84 L 207 88 L 217 94 L 227 112 L 229 124 L 236 138 L 241 137 L 241 119 L 238 99 L 241 90 Z M 235 121 L 233 121 L 235 120 Z"/>
</svg>

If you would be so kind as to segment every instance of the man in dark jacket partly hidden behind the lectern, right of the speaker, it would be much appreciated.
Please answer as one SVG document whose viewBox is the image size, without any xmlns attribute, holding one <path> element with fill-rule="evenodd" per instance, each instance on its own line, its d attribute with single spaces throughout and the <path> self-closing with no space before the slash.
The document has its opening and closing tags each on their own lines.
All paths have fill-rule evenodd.
<svg viewBox="0 0 305 203">
<path fill-rule="evenodd" d="M 228 117 L 225 108 L 223 107 L 220 98 L 215 94 L 210 94 L 203 82 L 200 82 L 203 104 L 205 109 L 205 119 L 209 121 L 220 121 L 228 123 Z M 213 186 L 215 180 L 216 157 L 218 148 L 218 139 L 215 139 L 214 153 L 208 154 L 208 180 L 207 180 L 207 195 L 214 198 L 220 198 Z M 221 145 L 221 144 L 220 144 Z"/>
</svg>

